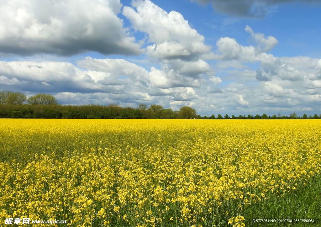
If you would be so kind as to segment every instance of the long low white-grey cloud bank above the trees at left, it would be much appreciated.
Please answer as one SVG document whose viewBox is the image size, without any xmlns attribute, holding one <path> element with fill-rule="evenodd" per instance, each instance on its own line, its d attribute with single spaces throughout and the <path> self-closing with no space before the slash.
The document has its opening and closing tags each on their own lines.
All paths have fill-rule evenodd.
<svg viewBox="0 0 321 227">
<path fill-rule="evenodd" d="M 197 95 L 192 87 L 204 83 L 204 79 L 186 77 L 174 70 L 151 67 L 147 71 L 124 59 L 86 57 L 77 63 L 0 61 L 0 85 L 31 93 L 106 93 L 127 102 L 153 100 L 153 96 L 193 100 Z"/>
</svg>

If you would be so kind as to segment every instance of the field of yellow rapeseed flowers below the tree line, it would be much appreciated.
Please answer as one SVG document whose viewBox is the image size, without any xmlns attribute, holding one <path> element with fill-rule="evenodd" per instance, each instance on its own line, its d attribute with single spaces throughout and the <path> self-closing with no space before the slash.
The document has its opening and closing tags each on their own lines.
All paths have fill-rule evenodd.
<svg viewBox="0 0 321 227">
<path fill-rule="evenodd" d="M 1 226 L 318 226 L 320 138 L 319 120 L 0 119 Z"/>
</svg>

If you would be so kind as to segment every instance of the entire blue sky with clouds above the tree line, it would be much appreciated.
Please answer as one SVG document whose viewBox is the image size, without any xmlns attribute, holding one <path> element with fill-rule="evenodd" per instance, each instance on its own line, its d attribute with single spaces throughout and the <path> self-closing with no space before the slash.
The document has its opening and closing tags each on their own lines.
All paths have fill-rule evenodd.
<svg viewBox="0 0 321 227">
<path fill-rule="evenodd" d="M 0 1 L 0 91 L 319 115 L 320 12 L 321 0 Z"/>
</svg>

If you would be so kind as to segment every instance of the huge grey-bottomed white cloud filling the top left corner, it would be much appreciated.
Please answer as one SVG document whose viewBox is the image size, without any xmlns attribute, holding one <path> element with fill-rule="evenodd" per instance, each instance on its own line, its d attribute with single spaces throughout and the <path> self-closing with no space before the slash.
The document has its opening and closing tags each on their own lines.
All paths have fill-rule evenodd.
<svg viewBox="0 0 321 227">
<path fill-rule="evenodd" d="M 0 53 L 138 55 L 117 17 L 120 0 L 8 0 L 0 4 Z"/>
</svg>

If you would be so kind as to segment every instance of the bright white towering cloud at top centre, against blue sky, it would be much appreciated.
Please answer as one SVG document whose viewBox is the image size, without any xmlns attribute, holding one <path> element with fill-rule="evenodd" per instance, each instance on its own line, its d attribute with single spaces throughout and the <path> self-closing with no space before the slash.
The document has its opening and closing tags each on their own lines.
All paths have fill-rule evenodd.
<svg viewBox="0 0 321 227">
<path fill-rule="evenodd" d="M 149 0 L 133 1 L 132 7 L 124 6 L 123 14 L 135 30 L 147 33 L 148 41 L 154 43 L 146 48 L 149 56 L 190 60 L 210 51 L 204 36 L 192 29 L 182 14 L 167 13 Z"/>
</svg>

